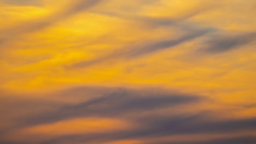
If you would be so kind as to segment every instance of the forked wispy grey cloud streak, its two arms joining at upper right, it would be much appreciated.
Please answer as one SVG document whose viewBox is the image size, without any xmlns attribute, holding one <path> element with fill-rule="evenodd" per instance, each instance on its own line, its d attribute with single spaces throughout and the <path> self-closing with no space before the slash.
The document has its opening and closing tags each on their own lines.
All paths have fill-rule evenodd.
<svg viewBox="0 0 256 144">
<path fill-rule="evenodd" d="M 214 8 L 214 7 L 211 7 Z M 177 29 L 182 29 L 182 31 L 187 32 L 186 35 L 176 39 L 164 38 L 165 40 L 155 40 L 155 41 L 145 41 L 145 43 L 140 45 L 133 45 L 121 48 L 119 51 L 110 53 L 109 55 L 92 59 L 91 61 L 82 61 L 74 63 L 72 65 L 66 66 L 67 69 L 73 68 L 86 68 L 92 65 L 109 61 L 110 59 L 116 58 L 136 58 L 147 55 L 149 53 L 154 53 L 157 51 L 165 50 L 179 44 L 183 44 L 189 40 L 202 37 L 203 35 L 215 31 L 214 28 L 202 28 L 196 26 L 195 23 L 189 23 L 185 20 L 189 19 L 192 16 L 203 13 L 203 11 L 210 10 L 211 8 L 202 7 L 194 11 L 190 11 L 187 14 L 179 17 L 178 19 L 165 18 L 155 18 L 155 17 L 146 17 L 146 16 L 123 16 L 118 14 L 112 14 L 112 16 L 121 17 L 122 19 L 135 20 L 138 23 L 143 23 L 143 26 L 148 27 L 148 29 L 159 28 L 162 26 L 165 27 L 175 27 Z M 103 13 L 106 14 L 106 13 Z M 166 29 L 166 31 L 170 31 Z M 136 43 L 136 41 L 134 41 Z"/>
</svg>

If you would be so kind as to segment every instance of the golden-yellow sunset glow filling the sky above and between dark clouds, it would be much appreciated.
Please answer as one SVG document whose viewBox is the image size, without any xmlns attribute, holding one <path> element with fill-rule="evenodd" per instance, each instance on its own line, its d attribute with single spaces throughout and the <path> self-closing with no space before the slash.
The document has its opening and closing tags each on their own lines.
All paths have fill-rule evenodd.
<svg viewBox="0 0 256 144">
<path fill-rule="evenodd" d="M 34 4 L 36 2 L 39 4 Z M 43 99 L 61 107 L 78 104 L 100 93 L 85 92 L 84 99 L 75 94 L 72 98 L 53 96 L 63 89 L 160 87 L 202 95 L 206 99 L 200 104 L 178 107 L 181 113 L 209 110 L 220 113 L 217 119 L 256 115 L 256 41 L 253 38 L 256 1 L 34 0 L 32 4 L 24 0 L 24 3 L 0 0 L 0 90 L 15 93 L 7 97 Z M 90 7 L 86 8 L 86 4 Z M 207 32 L 185 39 L 197 31 Z M 252 33 L 252 40 L 241 44 L 239 39 L 235 40 L 232 42 L 237 45 L 234 49 L 223 44 L 226 51 L 203 51 L 211 45 L 208 39 L 219 35 L 235 37 L 241 33 Z M 160 43 L 183 37 L 182 43 Z M 163 48 L 160 44 L 167 46 Z M 152 45 L 156 48 L 150 47 Z M 221 47 L 220 42 L 216 45 Z M 145 47 L 149 47 L 148 50 L 139 53 Z M 166 108 L 157 112 L 166 114 L 168 111 L 170 109 Z M 112 116 L 65 119 L 18 128 L 15 134 L 54 137 L 110 133 L 139 125 L 124 119 Z M 11 137 L 11 132 L 7 135 Z M 190 140 L 194 136 L 184 137 Z M 205 136 L 196 137 L 199 140 Z M 95 143 L 139 144 L 145 141 L 148 142 L 129 139 Z"/>
</svg>

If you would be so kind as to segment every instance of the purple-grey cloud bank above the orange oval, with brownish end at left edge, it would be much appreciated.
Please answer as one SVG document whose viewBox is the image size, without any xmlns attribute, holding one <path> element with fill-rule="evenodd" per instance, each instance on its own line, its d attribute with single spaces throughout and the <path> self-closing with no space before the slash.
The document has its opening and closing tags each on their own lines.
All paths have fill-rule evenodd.
<svg viewBox="0 0 256 144">
<path fill-rule="evenodd" d="M 1 97 L 4 103 L 4 105 L 1 106 L 5 109 L 2 109 L 0 114 L 3 118 L 7 113 L 10 113 L 7 114 L 7 116 L 14 115 L 12 118 L 9 118 L 10 121 L 15 121 L 15 124 L 3 128 L 0 131 L 0 139 L 4 138 L 4 134 L 12 133 L 12 131 L 17 129 L 59 122 L 76 117 L 119 117 L 121 115 L 126 115 L 129 112 L 139 113 L 164 107 L 196 103 L 201 100 L 201 98 L 196 95 L 164 92 L 161 91 L 161 89 L 154 88 L 133 91 L 125 88 L 107 89 L 80 87 L 63 91 L 60 95 L 54 94 L 52 97 L 60 97 L 61 95 L 63 99 L 67 99 L 67 97 L 88 97 L 88 91 L 91 91 L 91 94 L 93 94 L 95 91 L 101 91 L 101 89 L 103 89 L 104 93 L 102 96 L 98 97 L 97 95 L 89 95 L 89 97 L 92 98 L 80 104 L 63 105 L 48 103 L 49 101 L 44 100 L 14 99 L 17 97 L 10 99 L 8 97 Z M 39 111 L 35 110 L 34 107 L 37 107 L 36 109 L 39 109 Z M 59 109 L 57 107 L 59 107 Z M 45 108 L 50 109 L 44 110 Z M 28 113 L 25 114 L 22 111 L 28 111 Z M 21 115 L 19 113 L 21 113 Z M 94 135 L 91 136 L 94 137 Z M 59 140 L 60 139 L 58 138 L 57 141 Z"/>
</svg>

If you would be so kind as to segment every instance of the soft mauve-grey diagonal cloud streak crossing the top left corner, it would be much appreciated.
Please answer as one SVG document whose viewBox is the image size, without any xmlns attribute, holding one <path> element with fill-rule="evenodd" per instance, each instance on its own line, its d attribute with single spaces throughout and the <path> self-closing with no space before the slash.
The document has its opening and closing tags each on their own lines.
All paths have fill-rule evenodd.
<svg viewBox="0 0 256 144">
<path fill-rule="evenodd" d="M 9 40 L 13 40 L 22 34 L 37 32 L 41 29 L 47 28 L 56 22 L 59 22 L 67 17 L 78 14 L 82 11 L 88 10 L 94 7 L 101 0 L 79 0 L 74 1 L 66 5 L 66 7 L 56 11 L 45 17 L 39 17 L 30 21 L 19 23 L 18 25 L 4 29 L 2 31 L 3 35 L 0 37 L 0 44 L 4 44 Z"/>
</svg>

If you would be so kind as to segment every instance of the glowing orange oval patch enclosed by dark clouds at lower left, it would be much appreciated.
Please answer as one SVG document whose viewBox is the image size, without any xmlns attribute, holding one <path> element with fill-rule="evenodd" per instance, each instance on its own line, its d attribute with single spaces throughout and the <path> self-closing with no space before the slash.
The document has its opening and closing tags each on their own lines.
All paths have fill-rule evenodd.
<svg viewBox="0 0 256 144">
<path fill-rule="evenodd" d="M 68 135 L 106 133 L 132 128 L 132 124 L 119 119 L 110 118 L 78 118 L 51 124 L 27 128 L 22 133 L 30 135 Z"/>
</svg>

